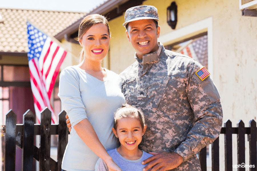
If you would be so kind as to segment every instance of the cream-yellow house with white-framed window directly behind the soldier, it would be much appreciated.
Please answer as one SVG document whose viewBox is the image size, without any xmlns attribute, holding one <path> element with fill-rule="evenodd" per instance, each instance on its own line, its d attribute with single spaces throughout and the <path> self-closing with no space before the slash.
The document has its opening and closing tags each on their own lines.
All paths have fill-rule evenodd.
<svg viewBox="0 0 257 171">
<path fill-rule="evenodd" d="M 256 0 L 242 5 L 239 0 L 175 0 L 177 24 L 172 29 L 167 24 L 167 8 L 172 0 L 133 1 L 108 0 L 89 14 L 99 13 L 109 18 L 111 42 L 109 53 L 103 60 L 106 67 L 117 74 L 122 72 L 134 59 L 134 49 L 128 42 L 124 23 L 126 9 L 136 5 L 153 5 L 158 9 L 161 28 L 158 41 L 167 49 L 188 56 L 205 65 L 221 95 L 225 122 L 232 121 L 232 127 L 241 119 L 246 125 L 257 116 L 257 17 L 242 15 L 243 9 L 256 14 Z M 247 11 L 249 12 L 249 11 Z M 79 23 L 74 22 L 55 35 L 64 46 L 78 55 L 81 47 L 70 42 L 76 38 Z M 199 56 L 200 55 L 200 56 Z M 76 65 L 70 58 L 63 68 Z M 62 69 L 63 69 L 62 68 Z M 236 137 L 233 135 L 233 152 L 236 154 Z M 220 136 L 220 169 L 224 170 L 224 135 Z M 247 144 L 247 143 L 246 143 Z M 244 150 L 244 149 L 242 149 Z M 246 145 L 246 156 L 249 147 Z M 208 163 L 208 161 L 207 161 Z M 236 157 L 233 163 L 237 163 Z M 249 159 L 246 158 L 246 164 Z"/>
</svg>

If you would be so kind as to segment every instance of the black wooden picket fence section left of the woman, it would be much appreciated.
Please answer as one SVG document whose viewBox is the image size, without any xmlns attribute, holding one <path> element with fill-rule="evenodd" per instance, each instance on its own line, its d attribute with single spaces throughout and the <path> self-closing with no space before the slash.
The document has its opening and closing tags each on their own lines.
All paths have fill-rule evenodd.
<svg viewBox="0 0 257 171">
<path fill-rule="evenodd" d="M 40 171 L 60 171 L 63 154 L 68 143 L 66 112 L 59 113 L 59 124 L 51 124 L 51 111 L 41 112 L 41 124 L 34 124 L 35 115 L 28 110 L 23 124 L 16 124 L 16 114 L 9 110 L 5 121 L 5 171 L 15 171 L 15 150 L 22 149 L 22 170 L 32 170 L 33 158 L 39 161 Z M 40 147 L 34 144 L 34 135 L 40 135 Z M 58 136 L 57 162 L 50 158 L 50 135 Z"/>
</svg>

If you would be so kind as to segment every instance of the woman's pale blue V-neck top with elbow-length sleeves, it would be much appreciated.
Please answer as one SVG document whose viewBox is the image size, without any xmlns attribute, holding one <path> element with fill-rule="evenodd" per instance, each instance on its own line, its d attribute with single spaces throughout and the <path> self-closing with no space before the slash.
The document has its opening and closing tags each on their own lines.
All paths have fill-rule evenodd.
<svg viewBox="0 0 257 171">
<path fill-rule="evenodd" d="M 105 69 L 105 68 L 104 68 Z M 77 135 L 73 126 L 88 119 L 105 149 L 117 147 L 112 127 L 114 112 L 125 103 L 121 78 L 105 69 L 105 81 L 89 75 L 78 66 L 69 66 L 60 74 L 59 93 L 64 110 L 71 121 L 71 138 L 67 144 L 62 169 L 92 171 L 98 156 Z"/>
</svg>

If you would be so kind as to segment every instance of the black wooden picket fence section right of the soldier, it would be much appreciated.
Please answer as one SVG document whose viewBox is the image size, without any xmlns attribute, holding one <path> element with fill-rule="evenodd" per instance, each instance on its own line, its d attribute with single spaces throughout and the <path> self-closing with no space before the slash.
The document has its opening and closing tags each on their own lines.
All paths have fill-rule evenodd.
<svg viewBox="0 0 257 171">
<path fill-rule="evenodd" d="M 245 164 L 245 134 L 247 135 L 247 141 L 249 141 L 249 159 L 250 171 L 257 170 L 257 131 L 256 122 L 251 120 L 249 127 L 244 127 L 244 122 L 240 120 L 237 123 L 237 127 L 232 127 L 230 120 L 224 123 L 224 127 L 221 128 L 220 135 L 224 134 L 224 146 L 225 146 L 225 168 L 226 171 L 232 171 L 232 134 L 237 134 L 237 165 Z M 199 160 L 201 163 L 202 171 L 207 170 L 206 166 L 206 147 L 199 152 Z M 212 143 L 212 171 L 220 170 L 220 154 L 219 154 L 219 137 Z M 235 164 L 234 164 L 235 165 Z M 222 169 L 223 170 L 223 169 Z M 238 167 L 238 171 L 245 171 L 245 167 Z"/>
</svg>

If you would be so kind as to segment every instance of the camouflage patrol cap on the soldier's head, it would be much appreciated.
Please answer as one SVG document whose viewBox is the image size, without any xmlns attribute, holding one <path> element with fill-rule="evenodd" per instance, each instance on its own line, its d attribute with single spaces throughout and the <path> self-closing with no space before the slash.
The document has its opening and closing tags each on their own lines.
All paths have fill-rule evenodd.
<svg viewBox="0 0 257 171">
<path fill-rule="evenodd" d="M 131 7 L 127 9 L 124 17 L 125 17 L 125 23 L 123 23 L 124 27 L 126 27 L 126 25 L 129 22 L 136 21 L 136 20 L 154 19 L 155 21 L 159 21 L 157 8 L 151 5 Z"/>
</svg>

